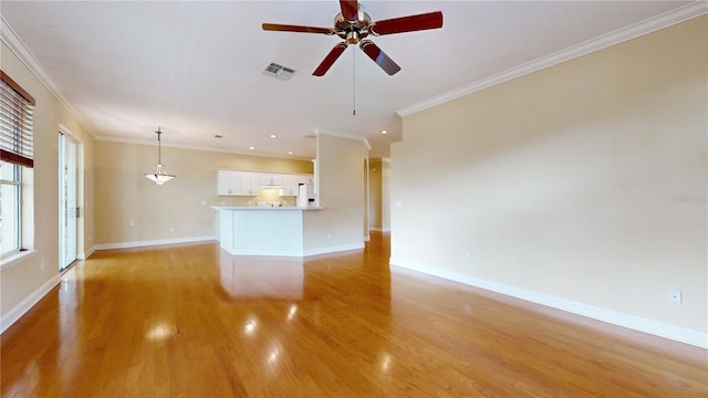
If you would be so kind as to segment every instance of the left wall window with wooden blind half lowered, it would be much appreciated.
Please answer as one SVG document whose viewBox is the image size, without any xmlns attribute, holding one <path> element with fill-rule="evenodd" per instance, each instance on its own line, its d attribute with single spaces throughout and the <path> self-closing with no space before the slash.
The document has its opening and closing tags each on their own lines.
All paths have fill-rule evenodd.
<svg viewBox="0 0 708 398">
<path fill-rule="evenodd" d="M 23 170 L 34 167 L 34 98 L 0 71 L 0 248 L 1 256 L 23 249 Z M 31 217 L 29 217 L 31 218 Z"/>
</svg>

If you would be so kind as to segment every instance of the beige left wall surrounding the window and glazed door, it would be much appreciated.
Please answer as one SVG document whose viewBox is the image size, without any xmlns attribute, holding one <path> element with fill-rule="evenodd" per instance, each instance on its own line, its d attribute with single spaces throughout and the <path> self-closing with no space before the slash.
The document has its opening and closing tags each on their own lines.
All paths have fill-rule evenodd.
<svg viewBox="0 0 708 398">
<path fill-rule="evenodd" d="M 80 191 L 84 212 L 79 249 L 93 245 L 94 239 L 94 144 L 84 128 L 52 93 L 6 45 L 0 49 L 0 67 L 37 101 L 34 107 L 34 169 L 32 189 L 24 190 L 25 206 L 34 209 L 34 253 L 0 273 L 0 312 L 3 323 L 20 307 L 31 305 L 59 282 L 59 132 L 64 126 L 80 142 Z M 29 221 L 29 220 L 25 220 Z M 30 222 L 31 224 L 31 222 Z M 85 250 L 85 249 L 84 249 Z M 80 253 L 81 255 L 81 253 Z M 3 325 L 4 328 L 4 325 Z"/>
</svg>

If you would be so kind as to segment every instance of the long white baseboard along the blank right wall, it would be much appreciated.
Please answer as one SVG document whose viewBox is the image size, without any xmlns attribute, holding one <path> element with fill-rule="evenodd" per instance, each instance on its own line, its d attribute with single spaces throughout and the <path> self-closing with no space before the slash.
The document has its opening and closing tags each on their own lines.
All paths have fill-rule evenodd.
<svg viewBox="0 0 708 398">
<path fill-rule="evenodd" d="M 549 307 L 566 311 L 569 313 L 586 316 L 593 320 L 606 322 L 613 325 L 623 326 L 634 331 L 639 331 L 655 336 L 673 339 L 680 343 L 690 344 L 701 348 L 708 348 L 708 333 L 675 326 L 663 322 L 652 321 L 635 315 L 624 314 L 617 311 L 602 308 L 593 305 L 579 303 L 572 300 L 551 296 L 543 293 L 532 292 L 502 283 L 491 282 L 478 277 L 464 275 L 457 272 L 437 269 L 434 266 L 416 264 L 402 259 L 389 259 L 389 264 L 421 272 L 428 275 L 442 277 L 446 280 L 464 283 L 501 293 L 508 296 L 521 298 L 528 302 L 545 305 Z"/>
</svg>

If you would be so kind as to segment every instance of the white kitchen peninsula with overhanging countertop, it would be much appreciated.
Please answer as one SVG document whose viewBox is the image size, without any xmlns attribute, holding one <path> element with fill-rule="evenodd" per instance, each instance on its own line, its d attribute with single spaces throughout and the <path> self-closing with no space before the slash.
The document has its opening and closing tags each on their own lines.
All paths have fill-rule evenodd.
<svg viewBox="0 0 708 398">
<path fill-rule="evenodd" d="M 214 207 L 219 243 L 233 255 L 304 256 L 304 218 L 320 207 Z"/>
</svg>

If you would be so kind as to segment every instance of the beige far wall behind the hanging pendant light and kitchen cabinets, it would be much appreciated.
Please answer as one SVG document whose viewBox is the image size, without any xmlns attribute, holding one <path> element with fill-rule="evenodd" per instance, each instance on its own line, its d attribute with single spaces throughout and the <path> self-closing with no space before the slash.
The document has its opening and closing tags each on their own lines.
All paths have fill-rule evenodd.
<svg viewBox="0 0 708 398">
<path fill-rule="evenodd" d="M 169 136 L 163 136 L 163 143 Z M 157 146 L 96 142 L 96 244 L 122 247 L 215 238 L 212 206 L 253 206 L 256 197 L 217 196 L 217 169 L 312 174 L 310 160 L 292 160 L 163 146 L 171 181 L 145 178 Z M 272 199 L 272 198 L 269 198 Z M 294 198 L 290 198 L 294 205 Z M 132 221 L 132 222 L 131 222 Z"/>
</svg>

